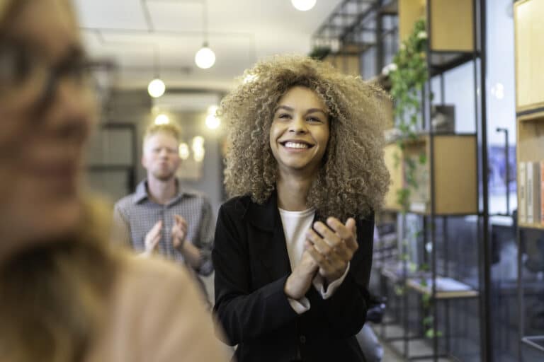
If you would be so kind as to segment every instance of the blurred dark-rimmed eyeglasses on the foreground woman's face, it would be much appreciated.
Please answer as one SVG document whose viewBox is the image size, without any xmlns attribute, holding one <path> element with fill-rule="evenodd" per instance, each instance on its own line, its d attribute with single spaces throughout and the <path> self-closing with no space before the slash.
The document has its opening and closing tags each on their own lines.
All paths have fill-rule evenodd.
<svg viewBox="0 0 544 362">
<path fill-rule="evenodd" d="M 47 107 L 61 79 L 86 86 L 91 72 L 107 65 L 89 61 L 80 49 L 71 49 L 51 65 L 28 45 L 0 40 L 0 99 L 26 95 L 36 107 Z"/>
</svg>

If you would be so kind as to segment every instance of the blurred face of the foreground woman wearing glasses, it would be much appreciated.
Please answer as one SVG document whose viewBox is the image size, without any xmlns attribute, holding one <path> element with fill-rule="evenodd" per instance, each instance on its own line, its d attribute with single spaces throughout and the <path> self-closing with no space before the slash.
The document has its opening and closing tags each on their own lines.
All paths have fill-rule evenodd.
<svg viewBox="0 0 544 362">
<path fill-rule="evenodd" d="M 77 225 L 95 109 L 68 1 L 28 0 L 8 18 L 0 34 L 0 257 Z"/>
</svg>

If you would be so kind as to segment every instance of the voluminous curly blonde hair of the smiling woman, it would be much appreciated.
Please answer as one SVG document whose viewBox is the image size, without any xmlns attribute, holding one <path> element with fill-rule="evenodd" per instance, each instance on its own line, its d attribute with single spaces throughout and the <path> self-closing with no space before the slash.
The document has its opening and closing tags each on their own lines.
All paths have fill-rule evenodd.
<svg viewBox="0 0 544 362">
<path fill-rule="evenodd" d="M 293 86 L 317 93 L 329 109 L 330 137 L 307 206 L 323 216 L 367 216 L 380 209 L 390 183 L 383 160 L 388 96 L 359 77 L 308 57 L 276 56 L 244 73 L 217 111 L 229 127 L 225 187 L 259 204 L 276 189 L 278 163 L 269 134 L 274 107 Z"/>
</svg>

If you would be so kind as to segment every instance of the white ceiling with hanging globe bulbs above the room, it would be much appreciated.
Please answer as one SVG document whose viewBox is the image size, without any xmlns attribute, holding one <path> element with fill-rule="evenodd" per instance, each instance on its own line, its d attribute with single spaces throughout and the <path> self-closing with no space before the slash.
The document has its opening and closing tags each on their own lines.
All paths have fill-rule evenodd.
<svg viewBox="0 0 544 362">
<path fill-rule="evenodd" d="M 230 88 L 261 57 L 310 52 L 314 30 L 341 0 L 317 0 L 297 11 L 290 0 L 207 0 L 208 40 L 217 61 L 199 69 L 205 0 L 75 0 L 91 57 L 113 59 L 123 87 L 143 88 L 160 76 L 169 88 Z M 150 25 L 146 18 L 149 11 Z"/>
</svg>

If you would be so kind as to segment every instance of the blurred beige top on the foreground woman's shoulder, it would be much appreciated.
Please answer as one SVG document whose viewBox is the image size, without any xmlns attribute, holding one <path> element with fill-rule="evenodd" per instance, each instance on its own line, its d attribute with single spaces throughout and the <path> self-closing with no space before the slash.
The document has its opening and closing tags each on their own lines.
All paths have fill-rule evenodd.
<svg viewBox="0 0 544 362">
<path fill-rule="evenodd" d="M 104 332 L 85 362 L 229 360 L 185 271 L 157 259 L 123 264 Z"/>
</svg>

